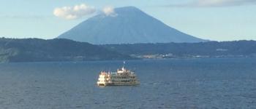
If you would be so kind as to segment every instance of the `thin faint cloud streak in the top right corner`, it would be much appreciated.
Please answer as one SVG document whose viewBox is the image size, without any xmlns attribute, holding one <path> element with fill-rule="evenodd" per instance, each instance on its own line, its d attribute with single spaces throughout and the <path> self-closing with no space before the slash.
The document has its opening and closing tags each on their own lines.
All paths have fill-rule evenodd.
<svg viewBox="0 0 256 109">
<path fill-rule="evenodd" d="M 170 7 L 228 7 L 256 4 L 256 0 L 194 0 L 185 4 L 171 4 Z"/>
</svg>

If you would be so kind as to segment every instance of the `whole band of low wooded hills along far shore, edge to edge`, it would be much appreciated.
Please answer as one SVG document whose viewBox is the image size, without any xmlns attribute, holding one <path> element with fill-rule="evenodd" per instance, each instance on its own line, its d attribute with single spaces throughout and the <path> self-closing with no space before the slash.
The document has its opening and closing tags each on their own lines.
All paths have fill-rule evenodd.
<svg viewBox="0 0 256 109">
<path fill-rule="evenodd" d="M 0 62 L 256 57 L 256 41 L 93 45 L 69 39 L 0 39 Z"/>
</svg>

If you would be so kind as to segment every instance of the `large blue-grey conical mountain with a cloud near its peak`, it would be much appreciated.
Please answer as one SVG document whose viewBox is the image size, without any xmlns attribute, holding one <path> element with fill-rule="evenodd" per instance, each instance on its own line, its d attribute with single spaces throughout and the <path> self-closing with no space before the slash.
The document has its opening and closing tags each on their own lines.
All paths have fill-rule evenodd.
<svg viewBox="0 0 256 109">
<path fill-rule="evenodd" d="M 165 25 L 136 7 L 115 9 L 115 15 L 99 14 L 58 36 L 91 44 L 135 44 L 206 41 Z"/>
</svg>

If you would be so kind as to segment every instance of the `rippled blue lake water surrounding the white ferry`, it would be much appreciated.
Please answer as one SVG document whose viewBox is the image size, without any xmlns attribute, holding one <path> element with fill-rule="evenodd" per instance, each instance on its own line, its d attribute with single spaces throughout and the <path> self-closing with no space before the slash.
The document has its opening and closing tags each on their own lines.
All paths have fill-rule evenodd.
<svg viewBox="0 0 256 109">
<path fill-rule="evenodd" d="M 96 85 L 122 63 L 1 63 L 0 108 L 256 108 L 256 58 L 132 60 L 140 86 Z"/>
</svg>

